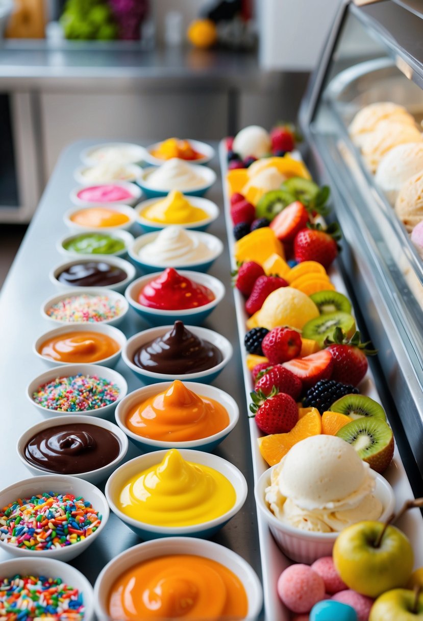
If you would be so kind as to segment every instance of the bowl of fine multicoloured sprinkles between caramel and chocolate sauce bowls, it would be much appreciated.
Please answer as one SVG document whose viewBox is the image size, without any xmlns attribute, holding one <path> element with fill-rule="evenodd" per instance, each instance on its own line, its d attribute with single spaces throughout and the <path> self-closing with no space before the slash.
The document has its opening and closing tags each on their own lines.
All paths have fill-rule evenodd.
<svg viewBox="0 0 423 621">
<path fill-rule="evenodd" d="M 27 397 L 45 417 L 65 413 L 111 419 L 127 392 L 125 378 L 100 365 L 52 368 L 27 386 Z"/>
</svg>

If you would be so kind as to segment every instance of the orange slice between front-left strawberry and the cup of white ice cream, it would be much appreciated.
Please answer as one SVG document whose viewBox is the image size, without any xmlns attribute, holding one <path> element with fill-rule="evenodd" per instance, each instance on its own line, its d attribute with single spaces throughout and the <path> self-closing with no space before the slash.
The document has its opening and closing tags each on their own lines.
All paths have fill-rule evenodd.
<svg viewBox="0 0 423 621">
<path fill-rule="evenodd" d="M 259 450 L 269 466 L 274 466 L 287 455 L 290 448 L 300 440 L 322 432 L 322 419 L 319 411 L 313 407 L 310 412 L 300 418 L 295 427 L 288 433 L 272 433 L 259 438 Z"/>
</svg>

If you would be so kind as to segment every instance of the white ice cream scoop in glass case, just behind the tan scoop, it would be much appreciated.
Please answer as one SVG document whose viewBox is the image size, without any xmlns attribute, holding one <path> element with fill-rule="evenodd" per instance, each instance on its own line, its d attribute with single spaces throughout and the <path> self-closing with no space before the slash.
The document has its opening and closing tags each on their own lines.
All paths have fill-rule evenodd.
<svg viewBox="0 0 423 621">
<path fill-rule="evenodd" d="M 423 142 L 410 142 L 392 148 L 380 161 L 375 181 L 395 204 L 399 190 L 410 177 L 423 171 Z"/>
</svg>

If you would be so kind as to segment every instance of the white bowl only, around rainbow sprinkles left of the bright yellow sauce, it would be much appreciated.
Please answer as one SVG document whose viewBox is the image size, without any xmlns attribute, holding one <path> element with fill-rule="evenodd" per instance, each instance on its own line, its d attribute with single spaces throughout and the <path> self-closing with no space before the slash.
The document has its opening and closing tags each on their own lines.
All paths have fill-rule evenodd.
<svg viewBox="0 0 423 621">
<path fill-rule="evenodd" d="M 31 498 L 43 492 L 53 492 L 57 494 L 73 494 L 77 498 L 82 496 L 84 501 L 91 502 L 95 511 L 102 515 L 100 524 L 91 535 L 80 542 L 65 546 L 64 548 L 51 548 L 51 550 L 28 550 L 27 548 L 17 548 L 10 543 L 0 541 L 0 549 L 6 550 L 13 556 L 37 557 L 40 558 L 56 558 L 60 561 L 71 561 L 76 556 L 84 552 L 94 540 L 104 530 L 107 520 L 109 519 L 109 505 L 100 492 L 98 487 L 77 479 L 74 476 L 66 476 L 65 474 L 44 474 L 43 476 L 33 476 L 30 479 L 24 479 L 5 487 L 0 491 L 0 507 L 6 507 L 9 503 L 16 501 L 18 498 Z"/>
</svg>

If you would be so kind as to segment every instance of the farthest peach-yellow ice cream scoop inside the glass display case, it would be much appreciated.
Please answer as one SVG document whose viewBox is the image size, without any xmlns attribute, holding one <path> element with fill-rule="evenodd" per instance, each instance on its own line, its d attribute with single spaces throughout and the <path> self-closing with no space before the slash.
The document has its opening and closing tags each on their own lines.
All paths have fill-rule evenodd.
<svg viewBox="0 0 423 621">
<path fill-rule="evenodd" d="M 374 132 L 376 125 L 386 119 L 402 124 L 415 124 L 414 117 L 403 106 L 398 106 L 391 101 L 376 102 L 363 107 L 355 115 L 349 127 L 352 141 L 361 148 L 368 134 Z"/>
</svg>

